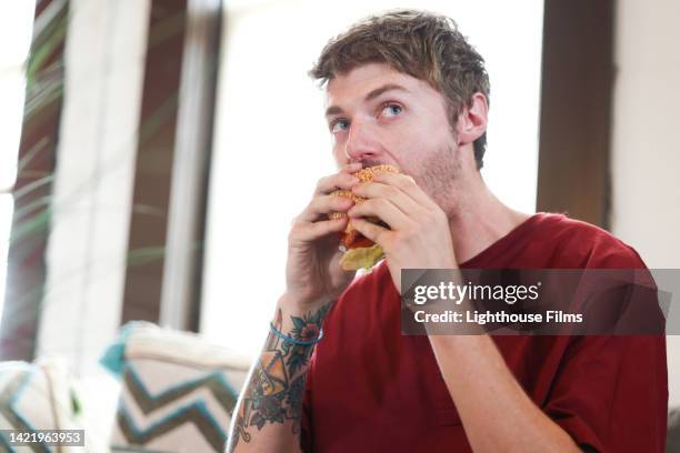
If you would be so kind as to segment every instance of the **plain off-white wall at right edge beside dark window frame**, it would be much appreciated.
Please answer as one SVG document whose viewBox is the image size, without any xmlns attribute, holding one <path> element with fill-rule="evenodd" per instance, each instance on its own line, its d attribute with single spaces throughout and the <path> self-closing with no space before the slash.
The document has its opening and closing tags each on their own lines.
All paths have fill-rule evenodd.
<svg viewBox="0 0 680 453">
<path fill-rule="evenodd" d="M 678 18 L 677 0 L 618 2 L 612 231 L 650 268 L 680 268 Z M 680 405 L 680 336 L 668 338 L 668 365 L 670 403 Z"/>
</svg>

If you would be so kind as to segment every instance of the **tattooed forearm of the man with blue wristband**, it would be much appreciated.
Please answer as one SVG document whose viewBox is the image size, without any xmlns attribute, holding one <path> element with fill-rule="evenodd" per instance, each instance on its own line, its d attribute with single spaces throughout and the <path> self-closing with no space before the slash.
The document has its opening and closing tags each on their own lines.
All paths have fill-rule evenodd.
<svg viewBox="0 0 680 453">
<path fill-rule="evenodd" d="M 331 303 L 304 311 L 281 298 L 272 324 L 298 342 L 313 342 Z M 302 395 L 313 344 L 270 330 L 233 412 L 228 452 L 298 452 Z"/>
</svg>

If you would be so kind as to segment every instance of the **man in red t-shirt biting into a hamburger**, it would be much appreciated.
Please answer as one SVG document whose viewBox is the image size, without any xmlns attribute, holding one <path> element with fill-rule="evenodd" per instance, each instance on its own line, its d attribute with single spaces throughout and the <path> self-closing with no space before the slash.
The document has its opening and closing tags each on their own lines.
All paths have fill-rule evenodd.
<svg viewBox="0 0 680 453">
<path fill-rule="evenodd" d="M 327 82 L 341 170 L 293 222 L 287 290 L 231 450 L 662 452 L 662 336 L 400 333 L 402 269 L 644 266 L 600 229 L 516 212 L 487 189 L 488 76 L 452 21 L 370 18 L 332 40 L 312 76 Z M 352 177 L 379 163 L 403 174 Z M 353 283 L 339 266 L 348 222 L 386 255 Z"/>
</svg>

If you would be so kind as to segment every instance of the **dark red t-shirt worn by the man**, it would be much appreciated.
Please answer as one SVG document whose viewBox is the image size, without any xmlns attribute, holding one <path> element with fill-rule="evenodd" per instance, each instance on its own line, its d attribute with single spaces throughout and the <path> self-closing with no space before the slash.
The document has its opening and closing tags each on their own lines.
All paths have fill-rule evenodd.
<svg viewBox="0 0 680 453">
<path fill-rule="evenodd" d="M 644 263 L 601 229 L 539 213 L 461 266 L 640 269 Z M 402 335 L 400 313 L 384 263 L 356 280 L 330 311 L 308 374 L 306 451 L 471 451 L 428 338 Z M 663 336 L 492 339 L 531 400 L 578 444 L 601 452 L 663 452 Z"/>
</svg>

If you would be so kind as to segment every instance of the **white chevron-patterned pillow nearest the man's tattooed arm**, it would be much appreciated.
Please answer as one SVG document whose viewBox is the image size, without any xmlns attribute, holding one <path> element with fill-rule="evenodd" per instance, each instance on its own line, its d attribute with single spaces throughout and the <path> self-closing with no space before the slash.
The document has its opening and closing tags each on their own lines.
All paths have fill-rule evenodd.
<svg viewBox="0 0 680 453">
<path fill-rule="evenodd" d="M 123 384 L 112 451 L 223 451 L 247 360 L 198 335 L 133 322 L 102 364 Z"/>
</svg>

